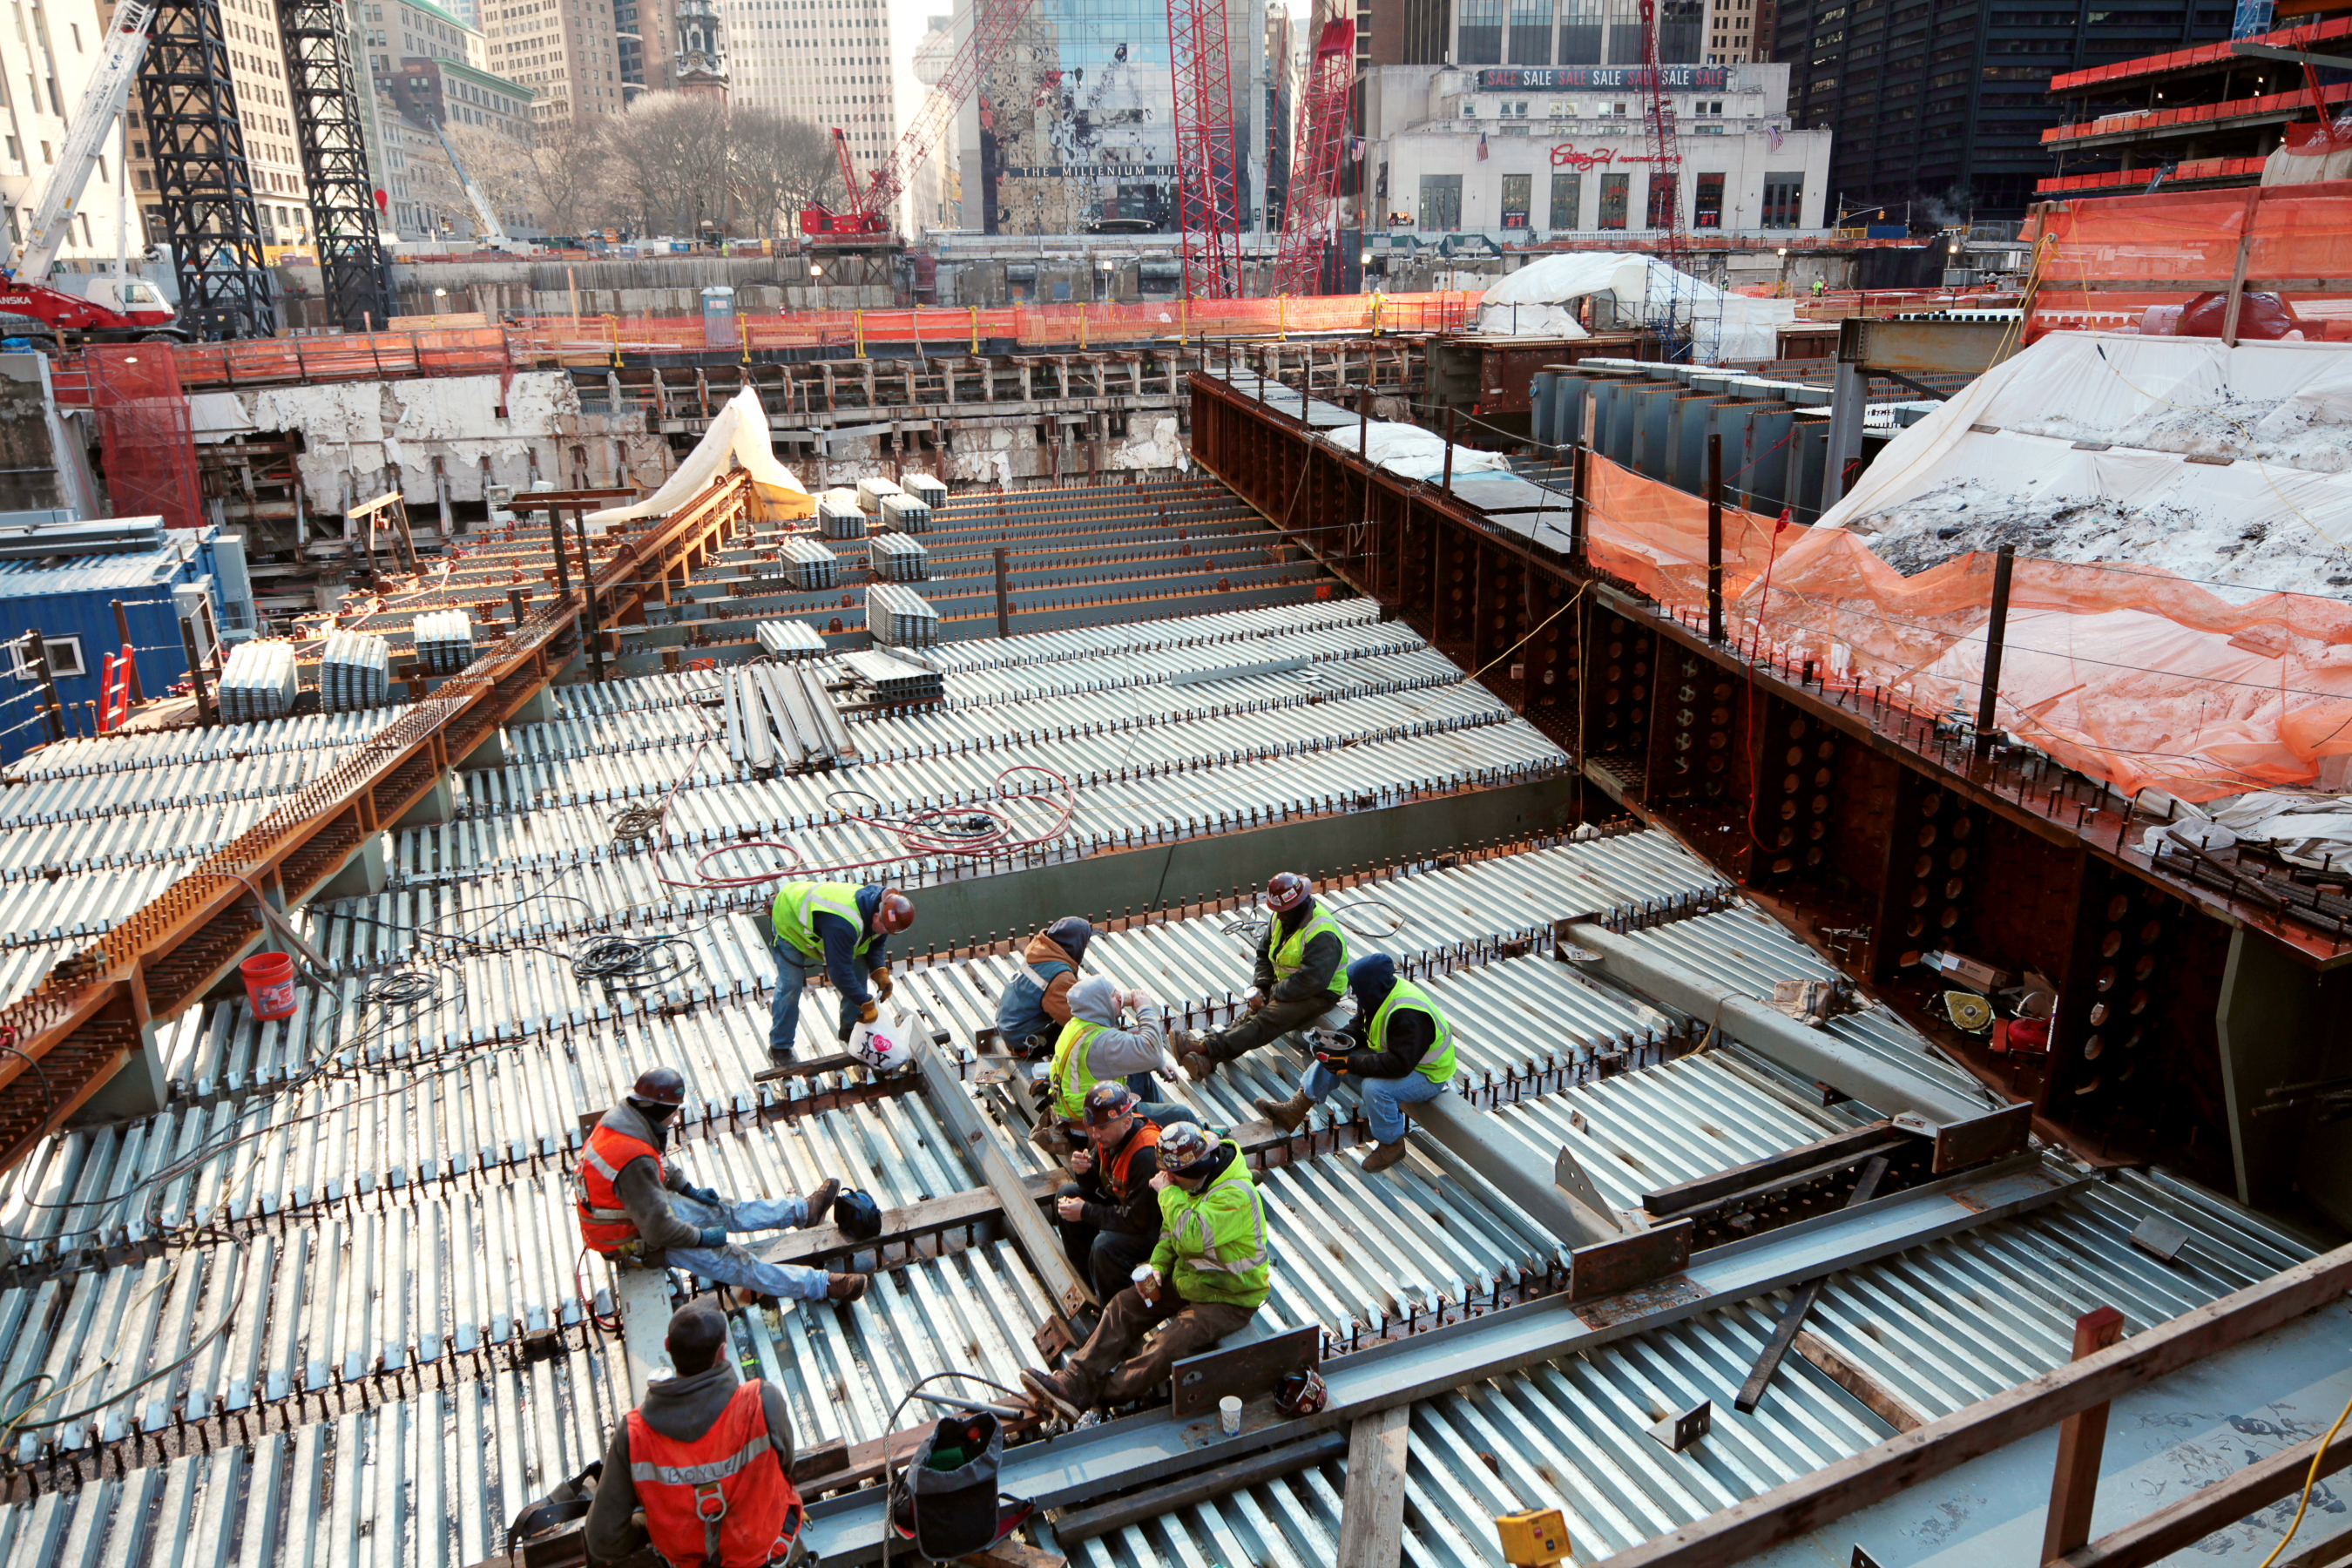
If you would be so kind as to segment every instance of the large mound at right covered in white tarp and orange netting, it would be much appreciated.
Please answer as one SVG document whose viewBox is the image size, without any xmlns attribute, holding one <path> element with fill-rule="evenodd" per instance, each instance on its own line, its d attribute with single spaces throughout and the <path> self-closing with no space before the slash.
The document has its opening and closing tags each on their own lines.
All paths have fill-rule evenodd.
<svg viewBox="0 0 2352 1568">
<path fill-rule="evenodd" d="M 2147 517 L 2161 501 L 2173 508 L 2164 512 L 2176 517 L 2171 527 L 2114 534 L 2096 550 L 2065 534 L 2013 541 L 1999 726 L 2126 795 L 2159 788 L 2216 802 L 2343 788 L 2352 766 L 2352 604 L 2324 595 L 2328 576 L 2352 574 L 2326 543 L 2352 538 L 2352 475 L 2253 456 L 2324 442 L 2328 425 L 2352 416 L 2338 386 L 2352 390 L 2352 350 L 2049 336 L 1898 435 L 1818 527 L 1726 515 L 1733 630 L 1792 663 L 1816 661 L 1830 686 L 1867 689 L 1922 715 L 1969 715 L 1994 574 L 1992 550 L 1971 545 L 1987 538 L 1938 541 L 1964 552 L 1903 576 L 1870 538 L 1839 524 L 1870 524 L 1926 494 L 1950 498 L 1943 487 L 1957 477 L 2011 503 L 2089 496 Z M 2216 409 L 2244 425 L 2227 440 L 2249 456 L 2211 463 L 2114 444 L 2079 449 L 2067 435 L 2016 430 L 2042 423 L 2169 440 L 2157 425 L 2171 416 Z M 1691 562 L 1705 557 L 1705 505 L 1597 456 L 1588 475 L 1595 559 L 1663 604 L 1698 611 L 1705 597 Z M 2281 555 L 2260 574 L 2305 592 L 2251 581 L 2244 552 L 2232 557 L 2232 583 L 2192 581 L 2232 564 L 2204 538 L 2206 517 L 2241 531 L 2246 552 L 2279 531 L 2319 538 L 2298 545 L 2300 564 Z M 2074 548 L 2074 559 L 2034 559 L 2044 548 Z"/>
</svg>

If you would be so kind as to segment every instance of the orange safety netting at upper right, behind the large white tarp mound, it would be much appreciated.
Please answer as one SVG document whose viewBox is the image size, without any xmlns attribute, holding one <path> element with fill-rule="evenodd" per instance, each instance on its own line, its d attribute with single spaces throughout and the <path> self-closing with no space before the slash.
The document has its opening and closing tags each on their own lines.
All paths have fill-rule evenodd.
<svg viewBox="0 0 2352 1568">
<path fill-rule="evenodd" d="M 2352 296 L 2352 181 L 2051 202 L 2023 233 L 2039 242 L 2027 336 L 2072 324 L 2138 324 L 2147 306 L 2227 289 L 2249 233 L 2249 287 L 2286 284 L 2274 292 L 2303 315 L 2314 315 L 2317 301 Z M 2307 324 L 2305 334 L 2321 329 Z"/>
</svg>

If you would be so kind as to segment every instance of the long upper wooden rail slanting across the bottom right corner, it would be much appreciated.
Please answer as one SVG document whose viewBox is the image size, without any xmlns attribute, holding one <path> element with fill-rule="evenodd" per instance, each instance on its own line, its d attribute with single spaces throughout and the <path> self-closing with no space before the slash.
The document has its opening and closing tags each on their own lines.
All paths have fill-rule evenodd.
<svg viewBox="0 0 2352 1568">
<path fill-rule="evenodd" d="M 2058 1425 L 2077 1410 L 2194 1366 L 2352 1288 L 2352 1246 L 2298 1262 L 2256 1286 L 2140 1333 L 2110 1349 L 2042 1373 L 2013 1389 L 1905 1432 L 1877 1448 L 1776 1486 L 1609 1559 L 1611 1568 L 1719 1568 L 1809 1535 L 1846 1514 L 1997 1448 Z"/>
</svg>

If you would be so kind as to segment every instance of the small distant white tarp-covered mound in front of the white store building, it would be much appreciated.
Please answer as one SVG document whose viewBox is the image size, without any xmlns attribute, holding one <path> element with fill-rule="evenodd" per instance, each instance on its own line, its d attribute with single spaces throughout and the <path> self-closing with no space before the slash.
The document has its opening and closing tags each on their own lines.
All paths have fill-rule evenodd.
<svg viewBox="0 0 2352 1568">
<path fill-rule="evenodd" d="M 1710 282 L 1628 252 L 1569 252 L 1531 261 L 1486 289 L 1477 329 L 1522 339 L 1583 339 L 1576 303 L 1613 294 L 1618 320 L 1675 320 L 1691 334 L 1691 357 L 1705 364 L 1778 360 L 1780 327 L 1797 320 L 1792 299 L 1726 294 Z"/>
</svg>

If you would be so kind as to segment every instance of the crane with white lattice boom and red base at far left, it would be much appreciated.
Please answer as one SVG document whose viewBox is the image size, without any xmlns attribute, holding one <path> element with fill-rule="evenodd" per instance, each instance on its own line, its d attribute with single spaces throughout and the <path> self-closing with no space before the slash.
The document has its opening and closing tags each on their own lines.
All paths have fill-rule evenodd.
<svg viewBox="0 0 2352 1568">
<path fill-rule="evenodd" d="M 40 202 L 33 205 L 33 223 L 9 261 L 7 287 L 0 289 L 0 336 L 26 336 L 54 348 L 129 339 L 186 339 L 172 324 L 174 313 L 162 292 L 127 273 L 78 277 L 80 294 L 49 284 L 56 252 L 64 249 L 68 223 L 73 223 L 73 209 L 106 153 L 115 115 L 129 103 L 132 87 L 139 82 L 139 61 L 146 56 L 153 19 L 153 0 L 125 0 L 115 9 L 99 63 L 82 87 L 82 101 L 73 106 L 73 120 L 66 122 L 66 148 L 56 160 L 56 174 L 49 176 Z M 125 183 L 129 183 L 127 174 Z"/>
</svg>

